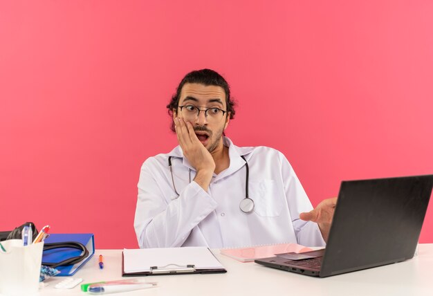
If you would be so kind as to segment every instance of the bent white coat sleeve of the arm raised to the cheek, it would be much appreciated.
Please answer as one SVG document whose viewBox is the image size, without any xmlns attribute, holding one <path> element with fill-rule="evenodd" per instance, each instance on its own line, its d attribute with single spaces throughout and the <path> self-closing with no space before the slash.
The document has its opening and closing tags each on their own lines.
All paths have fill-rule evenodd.
<svg viewBox="0 0 433 296">
<path fill-rule="evenodd" d="M 146 162 L 138 181 L 134 228 L 140 248 L 180 247 L 192 228 L 215 210 L 216 201 L 192 181 L 167 203 Z"/>
</svg>

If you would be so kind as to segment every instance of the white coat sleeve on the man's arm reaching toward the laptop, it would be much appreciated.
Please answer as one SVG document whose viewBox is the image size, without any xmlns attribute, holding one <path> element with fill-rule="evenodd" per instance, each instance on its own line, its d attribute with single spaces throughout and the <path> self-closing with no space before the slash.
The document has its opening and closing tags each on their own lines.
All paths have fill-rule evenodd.
<svg viewBox="0 0 433 296">
<path fill-rule="evenodd" d="M 313 210 L 313 206 L 293 167 L 288 163 L 287 158 L 283 154 L 281 156 L 284 189 L 297 243 L 308 247 L 325 246 L 326 243 L 317 223 L 300 219 L 300 213 L 310 212 Z"/>
</svg>

